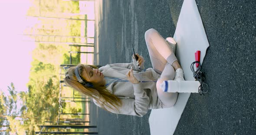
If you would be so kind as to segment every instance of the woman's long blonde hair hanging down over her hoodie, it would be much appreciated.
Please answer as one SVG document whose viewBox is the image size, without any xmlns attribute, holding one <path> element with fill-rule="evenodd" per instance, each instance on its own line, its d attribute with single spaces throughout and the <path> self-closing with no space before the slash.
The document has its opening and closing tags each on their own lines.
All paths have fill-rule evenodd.
<svg viewBox="0 0 256 135">
<path fill-rule="evenodd" d="M 98 69 L 98 67 L 94 65 L 88 65 L 92 68 Z M 66 77 L 64 79 L 65 83 L 72 87 L 73 89 L 93 98 L 97 101 L 100 106 L 107 110 L 106 107 L 111 109 L 118 110 L 118 107 L 121 106 L 121 100 L 112 94 L 109 90 L 106 89 L 105 86 L 100 86 L 97 84 L 93 84 L 93 87 L 86 87 L 85 85 L 79 83 L 75 76 L 75 68 L 78 67 L 78 71 L 82 74 L 85 71 L 85 68 L 82 64 L 78 64 L 77 66 L 70 67 L 66 72 Z M 85 79 L 84 79 L 85 80 Z"/>
</svg>

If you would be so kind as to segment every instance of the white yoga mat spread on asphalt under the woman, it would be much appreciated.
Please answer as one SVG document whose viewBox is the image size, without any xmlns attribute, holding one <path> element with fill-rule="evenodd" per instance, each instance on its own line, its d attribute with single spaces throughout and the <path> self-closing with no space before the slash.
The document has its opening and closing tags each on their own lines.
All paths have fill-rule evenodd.
<svg viewBox="0 0 256 135">
<path fill-rule="evenodd" d="M 190 64 L 195 61 L 194 53 L 201 51 L 200 63 L 209 42 L 195 0 L 184 0 L 174 33 L 177 42 L 176 56 L 184 71 L 185 80 L 195 80 Z M 198 93 L 194 93 L 198 94 Z M 179 93 L 177 103 L 167 109 L 152 109 L 149 117 L 151 135 L 173 135 L 190 93 Z"/>
</svg>

